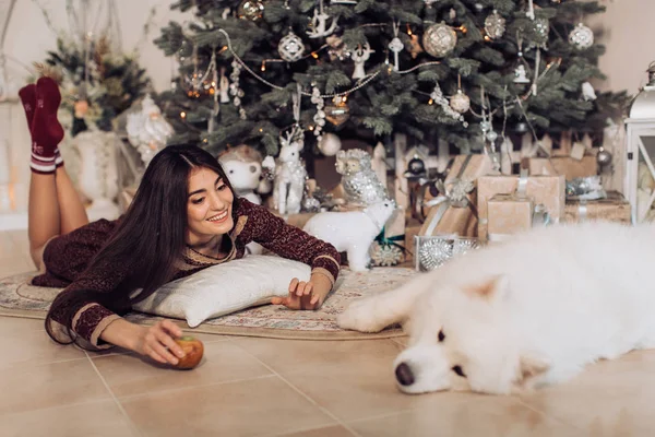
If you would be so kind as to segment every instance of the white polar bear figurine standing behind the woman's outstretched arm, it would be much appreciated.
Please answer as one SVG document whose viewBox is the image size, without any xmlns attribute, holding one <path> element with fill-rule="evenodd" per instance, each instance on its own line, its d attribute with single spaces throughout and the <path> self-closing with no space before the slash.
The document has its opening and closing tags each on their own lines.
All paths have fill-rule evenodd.
<svg viewBox="0 0 655 437">
<path fill-rule="evenodd" d="M 361 211 L 321 212 L 305 225 L 305 232 L 348 255 L 350 270 L 370 265 L 369 249 L 395 210 L 393 200 L 373 203 Z"/>
</svg>

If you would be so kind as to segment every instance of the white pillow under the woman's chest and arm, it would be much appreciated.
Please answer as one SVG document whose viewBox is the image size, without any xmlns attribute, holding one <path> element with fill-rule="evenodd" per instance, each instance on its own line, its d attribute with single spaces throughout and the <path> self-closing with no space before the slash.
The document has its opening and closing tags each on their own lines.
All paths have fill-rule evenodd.
<svg viewBox="0 0 655 437">
<path fill-rule="evenodd" d="M 159 287 L 133 308 L 156 316 L 203 321 L 286 296 L 291 279 L 309 281 L 311 269 L 277 256 L 251 255 L 212 265 Z"/>
</svg>

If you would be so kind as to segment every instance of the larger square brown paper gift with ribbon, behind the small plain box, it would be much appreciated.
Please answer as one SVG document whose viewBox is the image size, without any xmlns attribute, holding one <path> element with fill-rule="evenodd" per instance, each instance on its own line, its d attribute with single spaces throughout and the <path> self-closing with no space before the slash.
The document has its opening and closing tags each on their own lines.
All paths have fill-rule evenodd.
<svg viewBox="0 0 655 437">
<path fill-rule="evenodd" d="M 511 194 L 519 188 L 519 175 L 484 176 L 478 179 L 478 238 L 487 240 L 488 202 L 496 194 Z M 567 181 L 564 176 L 528 176 L 525 181 L 525 196 L 535 205 L 543 204 L 550 215 L 550 223 L 560 223 L 564 215 Z"/>
</svg>

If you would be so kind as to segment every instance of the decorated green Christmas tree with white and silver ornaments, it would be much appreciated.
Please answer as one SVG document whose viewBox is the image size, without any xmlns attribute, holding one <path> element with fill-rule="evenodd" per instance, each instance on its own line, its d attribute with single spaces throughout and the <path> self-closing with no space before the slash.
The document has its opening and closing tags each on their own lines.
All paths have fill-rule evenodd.
<svg viewBox="0 0 655 437">
<path fill-rule="evenodd" d="M 588 81 L 604 47 L 575 0 L 180 0 L 156 44 L 179 61 L 164 93 L 171 143 L 275 154 L 299 125 L 405 133 L 436 150 L 498 150 L 504 135 L 602 131 L 624 94 Z M 296 97 L 295 97 L 296 96 Z M 299 98 L 298 98 L 299 96 Z M 298 105 L 294 105 L 294 101 Z M 294 110 L 295 109 L 295 110 Z"/>
</svg>

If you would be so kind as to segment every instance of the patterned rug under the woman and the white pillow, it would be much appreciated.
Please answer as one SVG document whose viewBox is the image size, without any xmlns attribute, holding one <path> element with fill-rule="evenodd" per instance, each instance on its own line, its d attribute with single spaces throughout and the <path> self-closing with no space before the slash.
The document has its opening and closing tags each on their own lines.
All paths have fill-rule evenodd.
<svg viewBox="0 0 655 437">
<path fill-rule="evenodd" d="M 335 291 L 317 311 L 294 311 L 285 307 L 264 305 L 245 309 L 228 316 L 211 319 L 190 329 L 186 321 L 174 320 L 184 330 L 221 335 L 248 335 L 297 340 L 362 340 L 404 335 L 398 327 L 378 333 L 361 333 L 341 329 L 336 315 L 355 298 L 393 288 L 416 272 L 407 268 L 374 268 L 369 272 L 352 272 L 343 269 Z M 59 292 L 29 285 L 35 272 L 0 280 L 0 316 L 45 319 L 50 303 Z M 162 317 L 130 312 L 130 321 L 151 324 Z"/>
</svg>

